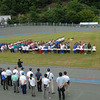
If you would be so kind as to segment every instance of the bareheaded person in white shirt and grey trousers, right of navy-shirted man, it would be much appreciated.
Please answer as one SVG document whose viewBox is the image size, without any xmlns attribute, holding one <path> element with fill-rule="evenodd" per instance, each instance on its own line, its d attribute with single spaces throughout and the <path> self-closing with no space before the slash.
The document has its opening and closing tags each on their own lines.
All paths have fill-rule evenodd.
<svg viewBox="0 0 100 100">
<path fill-rule="evenodd" d="M 44 78 L 42 79 L 42 84 L 43 84 L 43 98 L 47 98 L 47 100 L 51 99 L 49 96 L 49 84 L 50 80 L 47 78 L 47 74 L 44 74 Z"/>
</svg>

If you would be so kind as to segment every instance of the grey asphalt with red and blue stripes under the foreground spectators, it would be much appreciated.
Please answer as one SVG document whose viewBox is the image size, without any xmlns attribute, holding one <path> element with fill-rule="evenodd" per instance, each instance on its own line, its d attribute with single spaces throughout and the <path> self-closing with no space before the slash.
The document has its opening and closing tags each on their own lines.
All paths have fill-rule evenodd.
<svg viewBox="0 0 100 100">
<path fill-rule="evenodd" d="M 0 67 L 7 68 L 10 67 L 11 70 L 17 64 L 5 64 L 0 63 Z M 40 68 L 41 73 L 44 74 L 49 67 L 51 71 L 55 75 L 55 79 L 58 76 L 59 72 L 67 71 L 68 75 L 71 78 L 71 85 L 70 85 L 70 96 L 67 97 L 65 100 L 100 100 L 100 71 L 96 69 L 81 69 L 81 68 L 66 68 L 66 67 L 57 67 L 57 66 L 38 66 L 38 65 L 23 65 L 25 68 L 25 72 L 28 71 L 30 67 L 32 67 L 33 72 L 36 73 L 37 68 Z M 51 100 L 58 100 L 58 92 L 57 92 L 57 84 L 54 81 L 54 87 L 56 94 L 50 96 L 52 97 Z M 9 87 L 8 91 L 4 91 L 3 87 L 0 86 L 0 98 L 2 100 L 43 100 L 42 93 L 38 93 L 36 90 L 36 97 L 31 97 L 30 90 L 27 89 L 27 94 L 23 95 L 21 93 L 16 94 L 13 93 L 13 88 Z M 1 100 L 1 99 L 0 99 Z"/>
</svg>

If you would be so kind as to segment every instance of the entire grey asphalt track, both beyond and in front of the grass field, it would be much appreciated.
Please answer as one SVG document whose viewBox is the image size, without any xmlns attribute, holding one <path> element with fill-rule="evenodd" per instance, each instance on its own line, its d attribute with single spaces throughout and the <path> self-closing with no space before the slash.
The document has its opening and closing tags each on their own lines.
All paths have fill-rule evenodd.
<svg viewBox="0 0 100 100">
<path fill-rule="evenodd" d="M 43 33 L 56 33 L 56 32 L 75 32 L 75 31 L 98 31 L 100 28 L 79 28 L 79 27 L 49 27 L 49 26 L 21 26 L 21 27 L 7 27 L 0 28 L 0 38 L 29 35 L 29 34 L 43 34 Z M 0 67 L 10 67 L 11 70 L 17 66 L 16 64 L 0 63 Z M 100 100 L 100 70 L 97 69 L 84 69 L 84 68 L 66 68 L 57 66 L 38 66 L 38 65 L 24 65 L 25 72 L 28 68 L 32 67 L 33 72 L 39 67 L 44 74 L 47 67 L 51 68 L 51 71 L 55 75 L 55 79 L 58 73 L 61 71 L 67 71 L 71 78 L 70 96 L 66 96 L 66 100 Z M 51 95 L 51 100 L 58 100 L 57 85 L 54 82 L 56 94 Z M 0 86 L 0 100 L 43 100 L 42 93 L 36 91 L 36 97 L 31 97 L 30 90 L 27 89 L 27 94 L 13 93 L 13 88 L 9 87 L 8 91 L 4 91 Z"/>
</svg>

